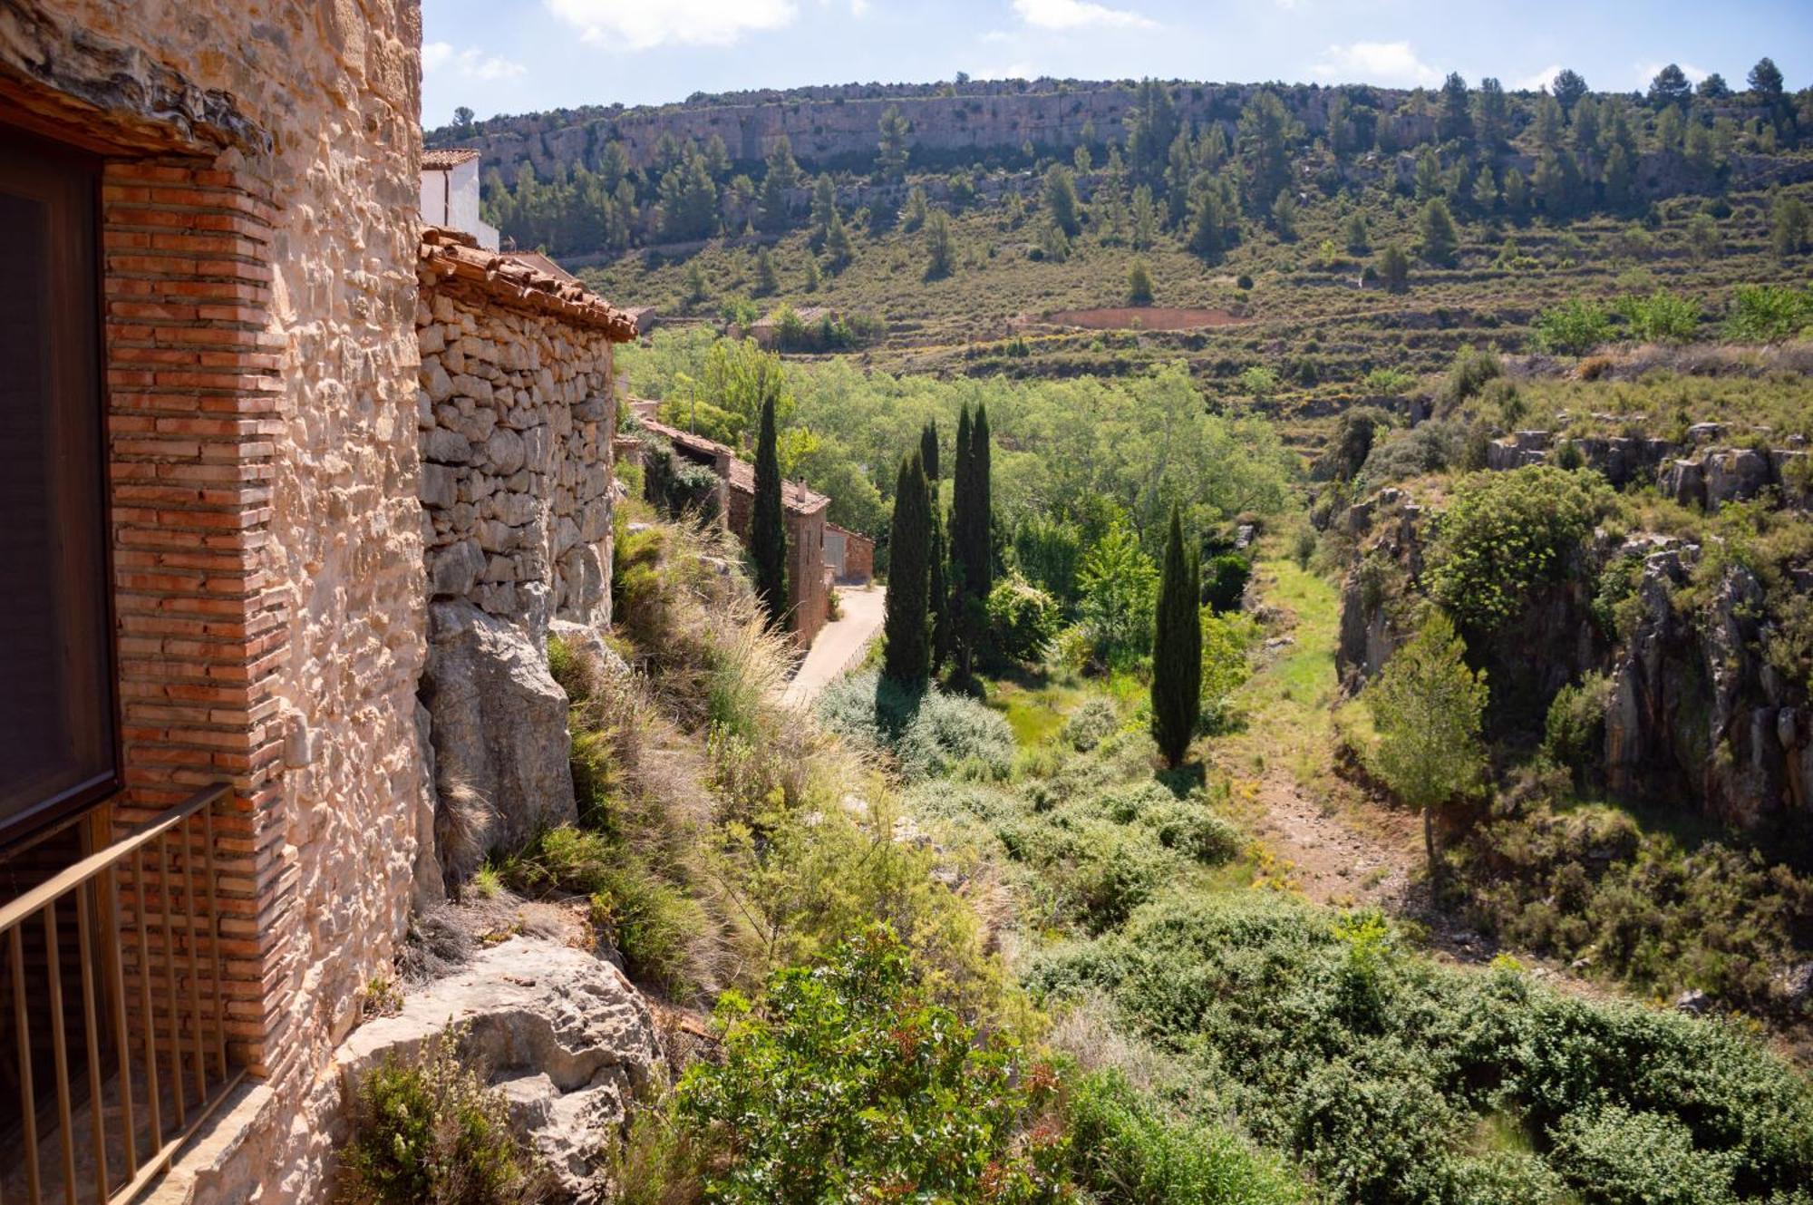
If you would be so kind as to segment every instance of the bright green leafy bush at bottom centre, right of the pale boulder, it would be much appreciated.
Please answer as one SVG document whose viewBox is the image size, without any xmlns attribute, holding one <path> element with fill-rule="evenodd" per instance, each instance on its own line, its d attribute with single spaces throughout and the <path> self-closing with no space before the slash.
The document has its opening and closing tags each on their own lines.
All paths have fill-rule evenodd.
<svg viewBox="0 0 1813 1205">
<path fill-rule="evenodd" d="M 1039 1127 L 1055 1080 L 981 1036 L 870 929 L 825 965 L 718 1004 L 722 1058 L 693 1063 L 676 1114 L 705 1160 L 705 1200 L 1062 1201 L 1066 1143 Z"/>
</svg>

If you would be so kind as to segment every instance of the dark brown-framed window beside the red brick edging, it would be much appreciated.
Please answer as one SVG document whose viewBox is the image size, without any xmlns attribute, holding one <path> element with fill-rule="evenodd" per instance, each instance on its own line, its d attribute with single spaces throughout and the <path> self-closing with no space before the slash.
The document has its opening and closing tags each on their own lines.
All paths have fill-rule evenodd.
<svg viewBox="0 0 1813 1205">
<path fill-rule="evenodd" d="M 94 198 L 0 127 L 0 840 L 118 782 Z"/>
</svg>

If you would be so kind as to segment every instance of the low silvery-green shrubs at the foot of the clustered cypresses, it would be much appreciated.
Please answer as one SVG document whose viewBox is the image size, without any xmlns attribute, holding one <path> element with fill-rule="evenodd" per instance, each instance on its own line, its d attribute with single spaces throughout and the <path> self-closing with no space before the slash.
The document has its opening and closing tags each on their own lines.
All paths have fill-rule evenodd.
<svg viewBox="0 0 1813 1205">
<path fill-rule="evenodd" d="M 939 690 L 914 693 L 872 673 L 838 679 L 818 702 L 825 726 L 859 746 L 883 749 L 908 780 L 963 769 L 1004 779 L 1013 730 L 981 702 Z"/>
</svg>

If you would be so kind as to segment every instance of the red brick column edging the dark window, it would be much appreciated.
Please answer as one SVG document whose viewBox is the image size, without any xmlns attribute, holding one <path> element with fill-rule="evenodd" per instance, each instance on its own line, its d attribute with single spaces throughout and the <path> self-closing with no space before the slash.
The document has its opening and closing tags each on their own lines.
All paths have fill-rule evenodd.
<svg viewBox="0 0 1813 1205">
<path fill-rule="evenodd" d="M 256 183 L 199 160 L 103 169 L 112 590 L 127 782 L 114 818 L 123 829 L 203 786 L 232 784 L 230 804 L 214 817 L 216 924 L 228 955 L 227 1033 L 254 1073 L 285 1062 L 283 1009 L 272 993 L 296 887 L 279 857 L 272 693 L 288 659 L 290 595 L 274 588 L 261 554 L 281 436 L 272 416 L 283 339 L 267 330 L 272 216 Z M 198 844 L 189 846 L 187 857 L 199 855 Z M 178 849 L 179 880 L 183 860 Z M 196 867 L 199 878 L 199 860 Z M 123 920 L 134 924 L 131 915 Z M 178 933 L 176 944 L 183 964 L 187 935 Z M 158 926 L 150 945 L 156 967 Z M 205 1011 L 210 1000 L 203 993 Z"/>
</svg>

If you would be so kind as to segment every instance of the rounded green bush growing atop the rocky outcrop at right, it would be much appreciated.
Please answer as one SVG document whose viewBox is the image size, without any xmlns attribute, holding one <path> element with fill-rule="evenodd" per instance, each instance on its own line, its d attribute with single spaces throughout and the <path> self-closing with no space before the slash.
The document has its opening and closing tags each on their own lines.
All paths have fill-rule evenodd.
<svg viewBox="0 0 1813 1205">
<path fill-rule="evenodd" d="M 1429 593 L 1461 626 L 1490 633 L 1561 581 L 1614 506 L 1592 472 L 1528 465 L 1463 477 L 1429 550 Z"/>
</svg>

